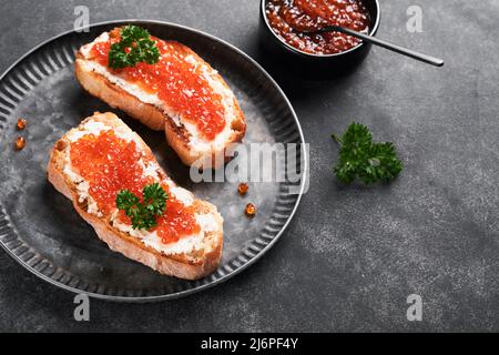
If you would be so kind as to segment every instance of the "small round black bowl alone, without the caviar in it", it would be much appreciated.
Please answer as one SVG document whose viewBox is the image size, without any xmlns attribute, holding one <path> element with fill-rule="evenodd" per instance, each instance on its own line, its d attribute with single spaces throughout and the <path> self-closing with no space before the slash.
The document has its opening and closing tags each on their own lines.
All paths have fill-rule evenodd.
<svg viewBox="0 0 499 355">
<path fill-rule="evenodd" d="M 378 0 L 361 0 L 370 17 L 370 36 L 375 36 L 381 19 L 381 9 Z M 278 67 L 292 67 L 306 73 L 328 73 L 332 75 L 342 74 L 359 64 L 370 51 L 371 44 L 360 42 L 356 47 L 335 54 L 312 54 L 301 51 L 281 39 L 271 28 L 265 16 L 265 7 L 268 0 L 262 0 L 259 7 L 259 32 L 262 44 L 273 58 L 279 62 Z M 274 60 L 275 61 L 275 60 Z M 274 63 L 277 64 L 277 63 Z M 282 65 L 281 65 L 282 64 Z"/>
</svg>

